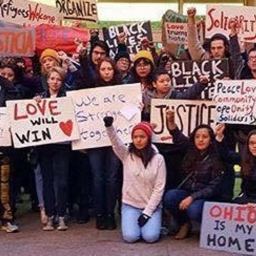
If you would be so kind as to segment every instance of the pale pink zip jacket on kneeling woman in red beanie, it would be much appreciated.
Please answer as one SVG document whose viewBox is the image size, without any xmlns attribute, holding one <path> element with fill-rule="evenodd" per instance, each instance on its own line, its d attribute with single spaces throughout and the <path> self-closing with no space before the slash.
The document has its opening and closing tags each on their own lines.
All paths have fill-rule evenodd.
<svg viewBox="0 0 256 256">
<path fill-rule="evenodd" d="M 141 158 L 131 157 L 128 148 L 117 136 L 113 126 L 106 128 L 113 150 L 124 166 L 124 183 L 122 202 L 143 209 L 143 213 L 151 216 L 161 203 L 165 189 L 165 160 L 156 150 L 147 168 Z"/>
</svg>

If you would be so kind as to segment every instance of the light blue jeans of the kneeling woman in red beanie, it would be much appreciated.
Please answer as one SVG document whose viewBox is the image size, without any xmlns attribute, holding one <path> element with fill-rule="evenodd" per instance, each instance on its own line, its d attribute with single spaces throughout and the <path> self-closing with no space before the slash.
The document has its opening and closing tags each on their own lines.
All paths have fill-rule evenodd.
<svg viewBox="0 0 256 256">
<path fill-rule="evenodd" d="M 142 238 L 147 243 L 154 243 L 160 237 L 162 209 L 157 208 L 148 222 L 139 227 L 138 218 L 143 209 L 135 208 L 128 204 L 122 204 L 121 230 L 124 241 L 135 243 Z"/>
</svg>

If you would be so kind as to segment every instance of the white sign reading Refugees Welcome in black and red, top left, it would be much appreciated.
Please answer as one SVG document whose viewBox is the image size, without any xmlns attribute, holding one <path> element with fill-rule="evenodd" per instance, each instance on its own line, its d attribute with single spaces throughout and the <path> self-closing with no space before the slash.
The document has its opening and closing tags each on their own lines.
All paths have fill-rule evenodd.
<svg viewBox="0 0 256 256">
<path fill-rule="evenodd" d="M 22 0 L 1 0 L 0 20 L 21 25 L 60 24 L 57 8 Z"/>
</svg>

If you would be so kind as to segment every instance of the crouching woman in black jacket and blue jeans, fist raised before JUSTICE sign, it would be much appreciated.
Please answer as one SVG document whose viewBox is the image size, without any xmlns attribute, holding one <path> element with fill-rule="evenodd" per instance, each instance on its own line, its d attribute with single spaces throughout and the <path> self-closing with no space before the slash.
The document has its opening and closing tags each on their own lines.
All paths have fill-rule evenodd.
<svg viewBox="0 0 256 256">
<path fill-rule="evenodd" d="M 224 176 L 224 167 L 215 146 L 215 135 L 208 125 L 200 125 L 190 140 L 174 123 L 174 113 L 167 112 L 167 125 L 174 144 L 187 140 L 188 150 L 181 164 L 183 181 L 177 189 L 167 191 L 164 205 L 171 211 L 180 229 L 175 239 L 184 239 L 191 230 L 191 220 L 201 221 L 206 200 L 218 200 L 218 187 Z"/>
</svg>

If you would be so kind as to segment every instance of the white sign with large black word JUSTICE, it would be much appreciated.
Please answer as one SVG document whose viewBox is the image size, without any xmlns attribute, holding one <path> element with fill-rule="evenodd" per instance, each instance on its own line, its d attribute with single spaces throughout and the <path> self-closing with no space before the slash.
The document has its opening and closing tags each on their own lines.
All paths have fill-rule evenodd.
<svg viewBox="0 0 256 256">
<path fill-rule="evenodd" d="M 161 137 L 170 135 L 166 124 L 167 108 L 174 110 L 175 123 L 186 136 L 190 136 L 200 124 L 208 124 L 215 128 L 216 105 L 213 101 L 152 99 L 150 122 L 157 124 L 154 129 L 154 142 L 172 143 L 172 139 L 161 140 Z"/>
</svg>

